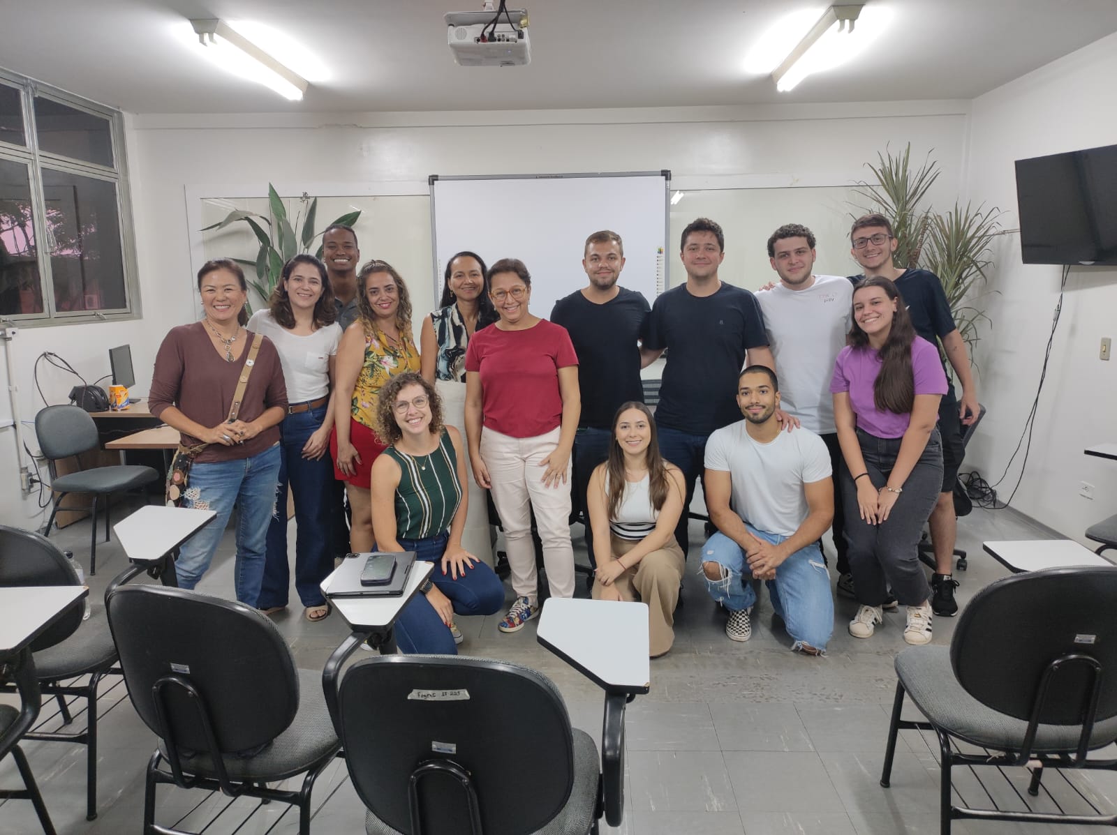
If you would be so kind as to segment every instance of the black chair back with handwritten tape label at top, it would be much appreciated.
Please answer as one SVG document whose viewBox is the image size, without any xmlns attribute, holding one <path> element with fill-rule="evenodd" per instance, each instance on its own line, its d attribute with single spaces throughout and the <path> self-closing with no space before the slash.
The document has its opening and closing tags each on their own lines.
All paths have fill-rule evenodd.
<svg viewBox="0 0 1117 835">
<path fill-rule="evenodd" d="M 439 768 L 455 764 L 476 791 L 486 835 L 541 829 L 570 798 L 570 717 L 554 684 L 534 670 L 384 655 L 350 668 L 338 701 L 353 785 L 365 806 L 401 833 L 414 832 L 409 786 L 417 772 L 430 775 L 417 785 L 422 831 L 471 831 L 468 791 Z"/>
</svg>

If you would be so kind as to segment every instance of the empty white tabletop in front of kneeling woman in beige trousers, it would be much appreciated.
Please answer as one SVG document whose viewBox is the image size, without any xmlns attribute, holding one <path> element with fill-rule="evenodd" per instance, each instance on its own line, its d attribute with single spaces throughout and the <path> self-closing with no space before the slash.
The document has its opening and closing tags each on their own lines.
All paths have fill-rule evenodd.
<svg viewBox="0 0 1117 835">
<path fill-rule="evenodd" d="M 551 597 L 536 637 L 607 691 L 650 689 L 646 603 Z"/>
</svg>

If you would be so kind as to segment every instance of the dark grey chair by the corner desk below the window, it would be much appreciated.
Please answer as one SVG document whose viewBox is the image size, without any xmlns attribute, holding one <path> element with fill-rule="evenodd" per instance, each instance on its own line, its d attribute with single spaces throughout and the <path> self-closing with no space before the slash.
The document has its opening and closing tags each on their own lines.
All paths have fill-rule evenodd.
<svg viewBox="0 0 1117 835">
<path fill-rule="evenodd" d="M 109 537 L 108 495 L 123 490 L 135 490 L 150 484 L 159 479 L 159 472 L 150 467 L 117 464 L 56 476 L 55 461 L 57 459 L 79 457 L 80 453 L 95 450 L 101 445 L 97 438 L 97 425 L 93 422 L 93 417 L 78 406 L 47 406 L 35 415 L 35 434 L 39 439 L 39 449 L 49 461 L 50 489 L 56 493 L 54 507 L 50 508 L 50 519 L 42 532 L 45 536 L 50 536 L 50 528 L 59 509 L 71 509 L 59 508 L 68 493 L 90 493 L 93 503 L 89 507 L 89 574 L 96 574 L 97 498 L 105 497 L 105 541 L 107 543 Z"/>
</svg>

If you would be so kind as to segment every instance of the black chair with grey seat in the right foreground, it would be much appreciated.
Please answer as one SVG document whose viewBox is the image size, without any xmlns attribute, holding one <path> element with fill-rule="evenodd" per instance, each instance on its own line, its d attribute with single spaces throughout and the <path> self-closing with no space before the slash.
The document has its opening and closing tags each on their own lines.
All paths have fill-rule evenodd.
<svg viewBox="0 0 1117 835">
<path fill-rule="evenodd" d="M 942 833 L 951 820 L 1117 825 L 1117 815 L 972 809 L 951 803 L 953 766 L 1027 766 L 1035 796 L 1044 766 L 1117 770 L 1087 760 L 1117 740 L 1117 567 L 1015 574 L 966 606 L 951 645 L 896 658 L 896 699 L 880 785 L 891 778 L 897 732 L 934 730 L 942 767 Z M 900 719 L 905 693 L 927 721 Z M 986 749 L 963 754 L 961 740 Z M 1038 765 L 1037 765 L 1038 764 Z"/>
</svg>

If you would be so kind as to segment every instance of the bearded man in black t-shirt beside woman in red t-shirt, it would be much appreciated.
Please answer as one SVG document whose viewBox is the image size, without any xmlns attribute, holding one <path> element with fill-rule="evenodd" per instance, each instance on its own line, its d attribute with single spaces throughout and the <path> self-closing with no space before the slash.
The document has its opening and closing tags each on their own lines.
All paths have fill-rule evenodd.
<svg viewBox="0 0 1117 835">
<path fill-rule="evenodd" d="M 624 243 L 617 232 L 594 232 L 583 253 L 590 284 L 558 299 L 551 321 L 566 328 L 577 353 L 582 415 L 574 441 L 574 499 L 585 522 L 590 564 L 596 567 L 585 491 L 593 468 L 609 457 L 617 410 L 628 401 L 643 402 L 638 339 L 650 308 L 642 294 L 617 284 L 624 268 Z"/>
</svg>

